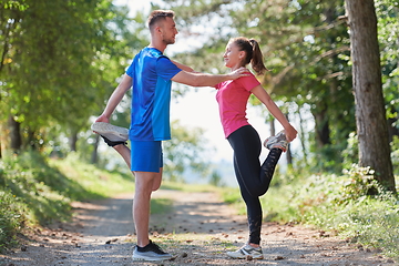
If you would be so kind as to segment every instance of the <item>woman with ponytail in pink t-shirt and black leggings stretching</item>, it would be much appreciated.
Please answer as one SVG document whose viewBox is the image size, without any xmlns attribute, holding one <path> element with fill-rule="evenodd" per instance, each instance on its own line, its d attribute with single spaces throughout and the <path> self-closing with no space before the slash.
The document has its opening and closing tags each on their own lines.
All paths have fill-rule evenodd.
<svg viewBox="0 0 399 266">
<path fill-rule="evenodd" d="M 263 74 L 267 69 L 263 63 L 263 54 L 258 43 L 247 38 L 232 39 L 223 55 L 225 65 L 232 71 L 250 63 L 256 74 Z M 233 258 L 263 258 L 260 244 L 262 206 L 259 196 L 264 195 L 270 184 L 276 164 L 288 142 L 293 141 L 297 131 L 289 124 L 285 115 L 270 99 L 254 74 L 242 76 L 234 81 L 225 81 L 216 85 L 216 100 L 219 106 L 221 122 L 225 137 L 234 150 L 234 170 L 239 184 L 241 194 L 247 206 L 249 239 L 236 252 L 228 252 Z M 260 139 L 246 119 L 246 105 L 250 94 L 259 99 L 283 125 L 284 131 L 268 137 L 264 145 L 270 150 L 267 158 L 260 165 Z"/>
</svg>

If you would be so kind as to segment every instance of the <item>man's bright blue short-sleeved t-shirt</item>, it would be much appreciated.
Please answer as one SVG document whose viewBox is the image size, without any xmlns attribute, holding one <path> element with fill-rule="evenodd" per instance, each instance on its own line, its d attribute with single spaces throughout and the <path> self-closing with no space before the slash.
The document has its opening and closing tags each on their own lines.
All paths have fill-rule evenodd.
<svg viewBox="0 0 399 266">
<path fill-rule="evenodd" d="M 171 140 L 171 79 L 182 70 L 155 48 L 144 48 L 129 66 L 133 79 L 131 141 Z"/>
</svg>

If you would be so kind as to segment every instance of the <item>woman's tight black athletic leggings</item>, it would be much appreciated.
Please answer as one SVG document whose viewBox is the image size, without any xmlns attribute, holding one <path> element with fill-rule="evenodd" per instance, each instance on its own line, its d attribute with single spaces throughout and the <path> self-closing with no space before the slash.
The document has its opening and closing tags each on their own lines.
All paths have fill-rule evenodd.
<svg viewBox="0 0 399 266">
<path fill-rule="evenodd" d="M 272 149 L 260 165 L 260 139 L 252 125 L 239 127 L 227 137 L 227 141 L 234 150 L 234 171 L 247 206 L 249 243 L 259 244 L 263 218 L 259 196 L 267 192 L 283 151 Z"/>
</svg>

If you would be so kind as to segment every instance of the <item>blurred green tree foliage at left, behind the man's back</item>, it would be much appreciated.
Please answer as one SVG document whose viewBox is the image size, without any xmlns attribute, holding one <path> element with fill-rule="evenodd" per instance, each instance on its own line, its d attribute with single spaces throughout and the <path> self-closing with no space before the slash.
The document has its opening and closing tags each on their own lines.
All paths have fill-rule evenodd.
<svg viewBox="0 0 399 266">
<path fill-rule="evenodd" d="M 76 135 L 142 44 L 129 10 L 111 0 L 8 2 L 0 6 L 0 123 L 20 123 L 25 146 Z"/>
</svg>

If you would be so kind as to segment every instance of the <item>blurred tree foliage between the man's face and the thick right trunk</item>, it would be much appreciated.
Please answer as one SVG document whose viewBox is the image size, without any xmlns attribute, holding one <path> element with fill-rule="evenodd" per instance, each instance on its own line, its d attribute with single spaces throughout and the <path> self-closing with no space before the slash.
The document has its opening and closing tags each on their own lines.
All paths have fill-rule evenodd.
<svg viewBox="0 0 399 266">
<path fill-rule="evenodd" d="M 178 58 L 196 70 L 225 72 L 218 59 L 227 40 L 237 35 L 256 39 L 272 69 L 259 79 L 273 99 L 296 104 L 298 110 L 310 106 L 315 121 L 310 132 L 315 134 L 307 134 L 311 139 L 305 142 L 313 144 L 314 168 L 341 171 L 340 151 L 356 130 L 349 35 L 340 19 L 345 16 L 344 0 L 213 0 L 209 4 L 172 0 L 164 4 L 176 11 L 185 32 L 195 34 L 191 25 L 212 21 L 209 33 L 202 37 L 208 39 L 204 47 Z"/>
</svg>

